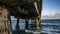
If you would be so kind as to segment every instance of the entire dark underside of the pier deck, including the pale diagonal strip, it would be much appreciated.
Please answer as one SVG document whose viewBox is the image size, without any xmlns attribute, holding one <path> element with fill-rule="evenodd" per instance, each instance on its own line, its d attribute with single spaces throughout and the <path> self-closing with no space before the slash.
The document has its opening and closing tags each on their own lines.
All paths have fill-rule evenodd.
<svg viewBox="0 0 60 34">
<path fill-rule="evenodd" d="M 1 4 L 8 8 L 11 16 L 25 19 L 40 15 L 42 0 L 0 0 Z"/>
</svg>

